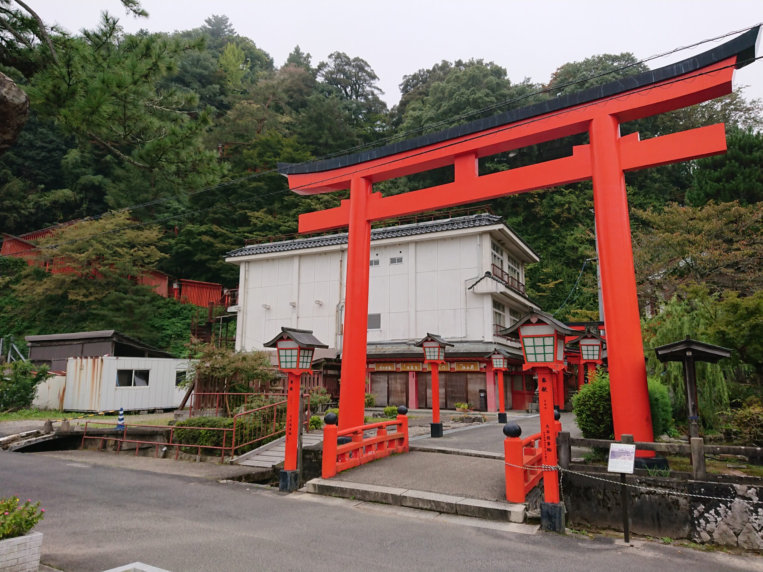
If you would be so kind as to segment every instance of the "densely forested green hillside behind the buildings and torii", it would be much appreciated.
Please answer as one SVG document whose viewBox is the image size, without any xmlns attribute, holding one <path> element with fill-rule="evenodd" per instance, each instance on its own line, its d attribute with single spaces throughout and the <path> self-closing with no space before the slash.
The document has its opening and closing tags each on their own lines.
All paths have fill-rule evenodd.
<svg viewBox="0 0 763 572">
<path fill-rule="evenodd" d="M 0 334 L 116 327 L 178 352 L 188 336 L 188 307 L 153 296 L 124 275 L 159 268 L 235 287 L 238 269 L 224 262 L 225 252 L 246 238 L 294 233 L 299 214 L 334 206 L 342 196 L 288 191 L 285 178 L 272 172 L 276 162 L 439 130 L 665 63 L 641 63 L 632 53 L 592 54 L 559 61 L 549 78 L 519 79 L 482 59 L 443 60 L 406 70 L 400 101 L 388 108 L 373 63 L 362 54 L 335 52 L 319 62 L 295 46 L 285 62 L 275 62 L 267 46 L 237 34 L 225 16 L 193 30 L 130 35 L 117 17 L 104 14 L 95 30 L 50 29 L 50 46 L 22 16 L 14 16 L 18 29 L 27 26 L 19 37 L 0 32 L 0 71 L 31 103 L 18 142 L 0 156 L 0 231 L 18 235 L 85 219 L 53 243 L 66 242 L 72 256 L 108 260 L 115 272 L 87 284 L 0 260 Z M 639 131 L 643 139 L 721 121 L 726 155 L 626 175 L 642 304 L 651 311 L 674 294 L 682 303 L 697 299 L 687 294 L 691 288 L 713 304 L 760 295 L 761 102 L 737 91 L 625 124 L 623 134 Z M 586 142 L 581 135 L 491 156 L 481 159 L 480 171 L 555 159 Z M 437 169 L 375 190 L 396 194 L 449 178 L 452 168 Z M 716 204 L 729 201 L 738 203 Z M 584 261 L 595 258 L 591 182 L 503 198 L 491 207 L 542 256 L 527 269 L 530 297 L 564 320 L 597 319 L 595 261 L 581 273 Z M 687 220 L 705 230 L 677 244 L 676 233 L 697 228 Z M 710 251 L 713 262 L 697 264 Z M 757 344 L 740 358 L 747 369 L 736 374 L 761 372 Z"/>
</svg>

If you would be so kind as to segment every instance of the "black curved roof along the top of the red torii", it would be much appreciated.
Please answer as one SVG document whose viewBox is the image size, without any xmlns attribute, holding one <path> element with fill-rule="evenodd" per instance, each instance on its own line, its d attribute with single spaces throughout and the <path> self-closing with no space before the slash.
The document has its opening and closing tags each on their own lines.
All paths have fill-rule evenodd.
<svg viewBox="0 0 763 572">
<path fill-rule="evenodd" d="M 560 95 L 558 98 L 540 101 L 539 103 L 527 105 L 523 108 L 512 109 L 501 114 L 491 115 L 490 117 L 484 117 L 483 119 L 478 119 L 476 121 L 470 121 L 466 124 L 448 127 L 447 129 L 436 131 L 434 133 L 427 133 L 427 135 L 412 137 L 410 139 L 398 141 L 398 143 L 390 143 L 389 145 L 376 147 L 375 149 L 369 149 L 368 151 L 333 157 L 332 159 L 325 159 L 324 161 L 278 163 L 278 172 L 282 175 L 323 172 L 332 169 L 340 169 L 349 165 L 357 165 L 358 163 L 372 161 L 373 159 L 381 159 L 382 157 L 404 153 L 411 149 L 432 145 L 433 143 L 442 143 L 443 141 L 455 139 L 456 137 L 463 137 L 471 133 L 477 133 L 478 131 L 515 123 L 516 121 L 523 121 L 530 117 L 559 111 L 574 105 L 588 103 L 589 101 L 611 97 L 631 89 L 642 88 L 652 83 L 662 82 L 667 79 L 682 76 L 685 73 L 697 71 L 697 69 L 711 66 L 713 63 L 721 62 L 732 56 L 738 56 L 736 67 L 739 69 L 752 63 L 752 60 L 755 59 L 756 48 L 760 43 L 760 31 L 761 26 L 758 24 L 758 26 L 750 28 L 749 31 L 746 31 L 744 34 L 740 34 L 732 40 L 714 47 L 712 50 L 698 53 L 696 56 L 684 59 L 678 63 L 673 63 L 669 66 L 652 69 L 649 72 L 639 73 L 636 74 L 636 76 L 629 76 L 614 82 L 596 85 L 592 88 L 583 89 L 580 92 Z"/>
</svg>

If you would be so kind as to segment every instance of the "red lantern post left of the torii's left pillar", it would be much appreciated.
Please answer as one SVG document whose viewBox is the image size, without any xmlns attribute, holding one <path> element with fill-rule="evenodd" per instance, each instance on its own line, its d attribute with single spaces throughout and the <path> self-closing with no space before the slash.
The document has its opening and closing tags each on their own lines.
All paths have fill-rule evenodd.
<svg viewBox="0 0 763 572">
<path fill-rule="evenodd" d="M 316 348 L 327 348 L 313 336 L 311 329 L 281 328 L 281 333 L 263 344 L 278 352 L 278 369 L 287 376 L 286 384 L 286 451 L 284 468 L 278 477 L 278 489 L 287 493 L 299 488 L 297 445 L 299 440 L 300 378 L 312 371 Z"/>
</svg>

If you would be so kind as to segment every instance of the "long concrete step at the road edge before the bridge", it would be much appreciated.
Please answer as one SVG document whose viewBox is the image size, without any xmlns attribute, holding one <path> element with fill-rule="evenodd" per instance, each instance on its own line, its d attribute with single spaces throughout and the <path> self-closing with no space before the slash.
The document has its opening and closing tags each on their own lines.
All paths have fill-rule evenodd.
<svg viewBox="0 0 763 572">
<path fill-rule="evenodd" d="M 426 490 L 406 490 L 327 479 L 308 480 L 305 488 L 307 493 L 340 496 L 346 499 L 372 501 L 394 506 L 409 506 L 414 509 L 472 516 L 478 519 L 500 522 L 525 522 L 526 519 L 524 505 L 430 493 Z"/>
</svg>

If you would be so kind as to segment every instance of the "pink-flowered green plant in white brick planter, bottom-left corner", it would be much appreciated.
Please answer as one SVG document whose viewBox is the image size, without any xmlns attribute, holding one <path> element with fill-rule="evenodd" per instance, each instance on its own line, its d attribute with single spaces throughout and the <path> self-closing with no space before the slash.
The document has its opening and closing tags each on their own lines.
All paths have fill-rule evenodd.
<svg viewBox="0 0 763 572">
<path fill-rule="evenodd" d="M 18 496 L 0 499 L 0 572 L 34 572 L 40 567 L 42 532 L 31 532 L 43 519 L 45 509 L 31 499 L 18 503 Z"/>
</svg>

